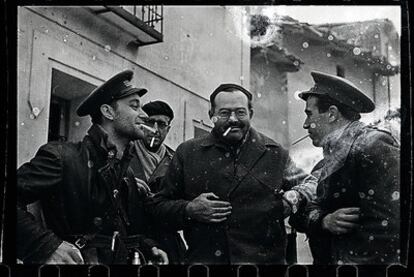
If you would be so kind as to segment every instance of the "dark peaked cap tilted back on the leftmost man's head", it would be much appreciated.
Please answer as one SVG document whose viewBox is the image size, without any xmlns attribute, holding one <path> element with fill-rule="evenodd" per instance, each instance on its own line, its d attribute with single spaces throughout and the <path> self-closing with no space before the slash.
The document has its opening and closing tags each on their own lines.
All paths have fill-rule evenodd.
<svg viewBox="0 0 414 277">
<path fill-rule="evenodd" d="M 76 113 L 79 116 L 94 114 L 103 104 L 110 104 L 114 100 L 127 97 L 131 94 L 138 94 L 140 97 L 147 93 L 144 88 L 136 88 L 130 81 L 134 72 L 132 70 L 122 71 L 111 79 L 94 89 L 88 97 L 79 105 Z"/>
</svg>

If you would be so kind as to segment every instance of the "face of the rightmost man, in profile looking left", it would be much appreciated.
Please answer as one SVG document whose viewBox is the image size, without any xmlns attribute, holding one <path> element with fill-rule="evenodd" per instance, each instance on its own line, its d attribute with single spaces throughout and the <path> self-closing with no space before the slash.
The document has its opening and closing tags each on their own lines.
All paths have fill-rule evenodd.
<svg viewBox="0 0 414 277">
<path fill-rule="evenodd" d="M 331 132 L 331 127 L 329 124 L 329 111 L 320 113 L 317 103 L 318 98 L 315 96 L 309 96 L 306 99 L 306 120 L 303 123 L 303 128 L 308 130 L 312 144 L 316 147 L 321 147 L 322 139 Z"/>
</svg>

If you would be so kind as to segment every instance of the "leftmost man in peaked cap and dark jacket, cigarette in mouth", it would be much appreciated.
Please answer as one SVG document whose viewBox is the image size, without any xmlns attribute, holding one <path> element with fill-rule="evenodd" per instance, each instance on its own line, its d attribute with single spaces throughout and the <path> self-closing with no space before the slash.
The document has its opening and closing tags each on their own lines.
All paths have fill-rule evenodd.
<svg viewBox="0 0 414 277">
<path fill-rule="evenodd" d="M 131 70 L 115 75 L 81 103 L 77 114 L 93 123 L 81 142 L 49 142 L 18 169 L 17 257 L 24 263 L 125 264 L 134 252 L 168 262 L 147 237 L 146 195 L 129 167 L 131 141 L 143 138 L 147 117 L 140 102 L 147 90 L 132 86 L 132 77 Z M 26 210 L 37 200 L 46 227 Z"/>
</svg>

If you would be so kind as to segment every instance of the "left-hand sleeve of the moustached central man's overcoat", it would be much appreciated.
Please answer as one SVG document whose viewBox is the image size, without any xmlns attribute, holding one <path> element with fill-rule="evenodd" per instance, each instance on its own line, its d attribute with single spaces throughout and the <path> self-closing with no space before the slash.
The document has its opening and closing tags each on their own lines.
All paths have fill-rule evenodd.
<svg viewBox="0 0 414 277">
<path fill-rule="evenodd" d="M 187 224 L 185 207 L 190 202 L 184 200 L 184 167 L 181 150 L 179 146 L 161 180 L 161 191 L 146 201 L 147 212 L 158 224 L 171 230 L 183 229 Z"/>
</svg>

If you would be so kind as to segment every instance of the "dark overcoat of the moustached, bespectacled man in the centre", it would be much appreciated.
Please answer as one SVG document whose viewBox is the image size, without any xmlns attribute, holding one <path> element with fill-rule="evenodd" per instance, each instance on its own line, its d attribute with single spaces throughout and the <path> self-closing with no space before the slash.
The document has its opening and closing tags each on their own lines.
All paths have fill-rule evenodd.
<svg viewBox="0 0 414 277">
<path fill-rule="evenodd" d="M 165 225 L 184 230 L 186 263 L 284 264 L 286 232 L 281 190 L 301 190 L 307 174 L 285 176 L 288 152 L 250 129 L 239 153 L 212 133 L 182 143 L 150 205 Z M 294 189 L 295 189 L 294 188 Z M 201 193 L 229 201 L 232 213 L 222 223 L 186 218 L 185 206 Z"/>
</svg>

